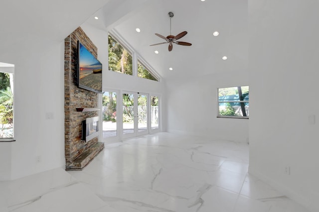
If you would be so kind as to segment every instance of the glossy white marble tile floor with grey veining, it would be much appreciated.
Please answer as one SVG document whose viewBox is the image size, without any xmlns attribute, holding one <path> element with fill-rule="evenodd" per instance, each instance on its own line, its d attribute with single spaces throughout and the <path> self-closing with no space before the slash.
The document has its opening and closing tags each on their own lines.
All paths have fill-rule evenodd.
<svg viewBox="0 0 319 212">
<path fill-rule="evenodd" d="M 107 144 L 82 171 L 0 182 L 0 212 L 309 212 L 249 175 L 248 145 L 172 133 Z"/>
</svg>

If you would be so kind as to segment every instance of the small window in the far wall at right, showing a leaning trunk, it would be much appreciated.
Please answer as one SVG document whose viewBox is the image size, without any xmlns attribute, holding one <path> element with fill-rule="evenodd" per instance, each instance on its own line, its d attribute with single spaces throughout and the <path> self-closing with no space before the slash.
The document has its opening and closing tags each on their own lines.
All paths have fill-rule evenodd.
<svg viewBox="0 0 319 212">
<path fill-rule="evenodd" d="M 249 86 L 219 88 L 217 117 L 248 118 Z"/>
</svg>

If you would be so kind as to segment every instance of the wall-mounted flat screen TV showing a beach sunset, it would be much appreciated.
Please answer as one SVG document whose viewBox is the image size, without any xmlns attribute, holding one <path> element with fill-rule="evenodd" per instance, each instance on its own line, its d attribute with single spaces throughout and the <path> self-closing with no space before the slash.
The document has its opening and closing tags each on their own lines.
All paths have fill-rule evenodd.
<svg viewBox="0 0 319 212">
<path fill-rule="evenodd" d="M 78 41 L 78 87 L 102 93 L 102 63 Z"/>
</svg>

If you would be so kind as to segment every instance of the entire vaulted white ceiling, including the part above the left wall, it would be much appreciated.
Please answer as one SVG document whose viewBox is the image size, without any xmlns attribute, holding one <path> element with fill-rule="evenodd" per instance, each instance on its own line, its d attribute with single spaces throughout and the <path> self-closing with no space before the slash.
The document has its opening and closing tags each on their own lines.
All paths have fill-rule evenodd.
<svg viewBox="0 0 319 212">
<path fill-rule="evenodd" d="M 164 79 L 240 75 L 247 69 L 247 0 L 4 0 L 0 8 L 0 56 L 22 56 L 23 48 L 36 50 L 48 41 L 62 41 L 86 22 L 121 35 Z M 174 45 L 171 52 L 168 44 L 150 46 L 164 42 L 155 33 L 169 35 L 169 11 L 174 13 L 172 35 L 187 31 L 180 41 L 192 46 Z M 214 31 L 219 36 L 213 36 Z"/>
</svg>

